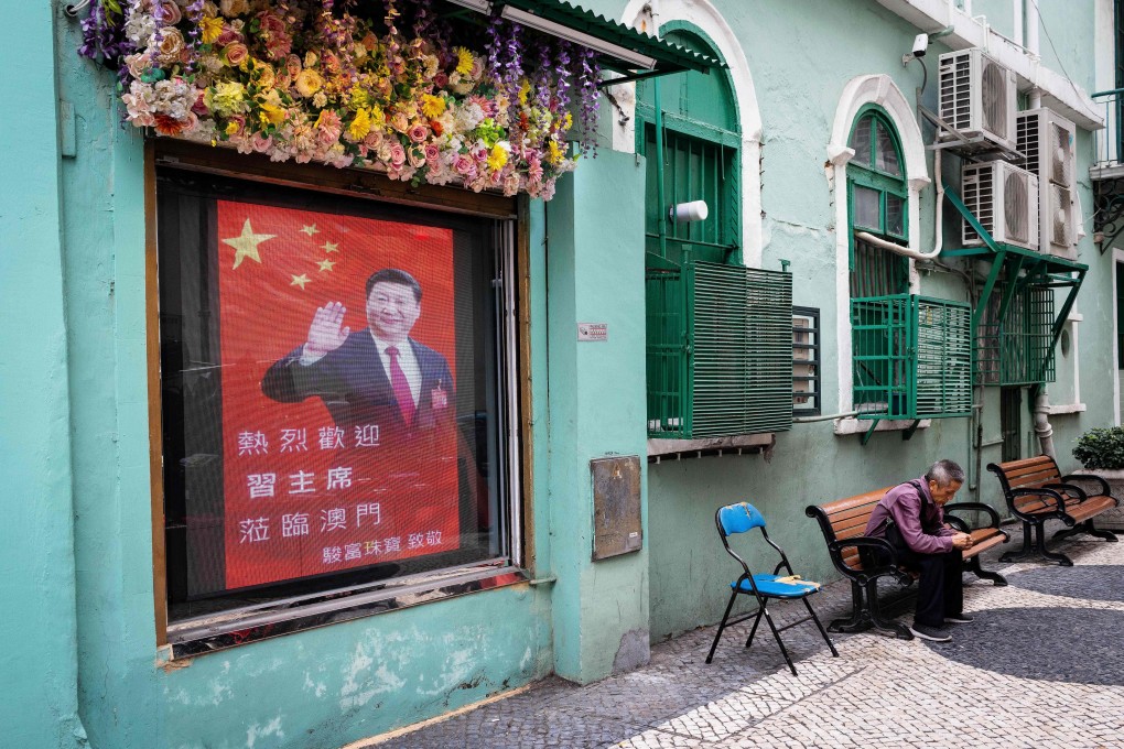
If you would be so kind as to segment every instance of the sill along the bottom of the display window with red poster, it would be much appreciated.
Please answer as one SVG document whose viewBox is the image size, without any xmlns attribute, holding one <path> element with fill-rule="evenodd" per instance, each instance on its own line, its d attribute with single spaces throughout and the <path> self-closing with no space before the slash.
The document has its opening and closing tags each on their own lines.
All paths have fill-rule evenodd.
<svg viewBox="0 0 1124 749">
<path fill-rule="evenodd" d="M 351 591 L 328 591 L 260 606 L 189 619 L 167 628 L 163 660 L 191 658 L 247 642 L 351 621 L 465 593 L 526 583 L 529 575 L 504 560 L 381 581 Z M 536 581 L 532 581 L 533 583 Z M 543 582 L 543 581 L 537 581 Z"/>
</svg>

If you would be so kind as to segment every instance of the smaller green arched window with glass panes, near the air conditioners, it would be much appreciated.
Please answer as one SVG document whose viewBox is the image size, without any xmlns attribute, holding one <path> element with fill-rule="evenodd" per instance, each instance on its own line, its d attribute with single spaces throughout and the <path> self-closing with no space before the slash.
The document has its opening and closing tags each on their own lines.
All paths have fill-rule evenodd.
<svg viewBox="0 0 1124 749">
<path fill-rule="evenodd" d="M 861 234 L 908 244 L 908 198 L 901 143 L 889 117 L 877 106 L 860 110 L 847 145 L 847 218 L 851 234 L 851 296 L 908 291 L 909 262 L 864 241 Z"/>
</svg>

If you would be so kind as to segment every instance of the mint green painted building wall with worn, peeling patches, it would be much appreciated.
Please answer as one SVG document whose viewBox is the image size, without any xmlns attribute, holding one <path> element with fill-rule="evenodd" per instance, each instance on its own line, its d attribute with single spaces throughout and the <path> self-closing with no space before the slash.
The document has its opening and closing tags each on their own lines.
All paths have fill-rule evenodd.
<svg viewBox="0 0 1124 749">
<path fill-rule="evenodd" d="M 16 695 L 0 701 L 0 727 L 13 746 L 335 747 L 552 672 L 591 682 L 646 660 L 649 641 L 718 619 L 732 567 L 714 531 L 716 506 L 756 503 L 798 572 L 826 579 L 833 573 L 806 504 L 915 476 L 939 457 L 975 469 L 966 419 L 934 421 L 908 442 L 878 433 L 865 448 L 836 437 L 831 422 L 797 424 L 778 435 L 771 462 L 646 464 L 644 163 L 602 145 L 554 201 L 532 204 L 532 572 L 541 582 L 164 664 L 151 574 L 143 141 L 119 125 L 111 74 L 74 54 L 78 25 L 61 4 L 21 6 L 18 19 L 11 4 L 0 85 L 20 118 L 0 126 L 0 143 L 8 174 L 19 177 L 0 186 L 0 469 L 15 501 L 0 533 L 0 600 L 19 615 L 0 620 L 0 633 L 19 647 L 0 654 L 0 693 Z M 619 17 L 625 3 L 584 4 Z M 791 261 L 795 303 L 821 309 L 830 413 L 840 351 L 824 293 L 835 287 L 837 230 L 825 147 L 853 76 L 887 74 L 912 101 L 921 70 L 903 67 L 900 55 L 917 29 L 873 0 L 817 2 L 814 13 L 785 0 L 715 6 L 741 40 L 763 120 L 762 264 Z M 1091 76 L 1080 54 L 1093 47 L 1090 22 L 1044 11 L 1054 42 L 1066 39 L 1068 72 Z M 943 51 L 931 51 L 931 107 Z M 56 99 L 75 111 L 57 128 Z M 602 113 L 615 111 L 606 104 Z M 55 131 L 72 125 L 76 154 L 61 157 Z M 1080 133 L 1086 216 L 1091 147 Z M 954 177 L 954 163 L 945 173 Z M 927 188 L 923 247 L 932 246 L 933 208 Z M 955 227 L 948 211 L 946 223 Z M 1076 353 L 1088 410 L 1052 418 L 1063 468 L 1073 466 L 1076 437 L 1112 418 L 1111 256 L 1086 237 L 1080 259 L 1090 265 Z M 922 274 L 922 290 L 967 299 L 963 282 L 940 270 Z M 607 322 L 609 340 L 578 342 L 579 321 Z M 990 440 L 997 391 L 986 391 L 982 415 Z M 642 456 L 644 549 L 593 563 L 589 460 L 614 454 Z M 981 457 L 998 459 L 998 446 Z M 988 474 L 970 478 L 999 506 Z"/>
</svg>

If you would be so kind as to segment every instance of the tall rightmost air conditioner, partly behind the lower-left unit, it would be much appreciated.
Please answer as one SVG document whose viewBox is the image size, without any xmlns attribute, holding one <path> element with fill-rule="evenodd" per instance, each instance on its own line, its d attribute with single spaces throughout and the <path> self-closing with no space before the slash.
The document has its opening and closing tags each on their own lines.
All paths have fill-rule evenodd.
<svg viewBox="0 0 1124 749">
<path fill-rule="evenodd" d="M 1072 122 L 1050 109 L 1017 117 L 1018 150 L 1026 155 L 1027 171 L 1039 177 L 1042 252 L 1066 257 L 1076 257 L 1076 134 Z"/>
</svg>

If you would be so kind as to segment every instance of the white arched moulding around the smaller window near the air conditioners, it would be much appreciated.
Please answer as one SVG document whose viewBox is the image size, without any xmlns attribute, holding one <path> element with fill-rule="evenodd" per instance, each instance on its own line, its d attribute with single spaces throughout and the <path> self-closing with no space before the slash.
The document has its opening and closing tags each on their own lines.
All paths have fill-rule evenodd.
<svg viewBox="0 0 1124 749">
<path fill-rule="evenodd" d="M 832 136 L 827 144 L 827 181 L 832 202 L 835 205 L 835 320 L 839 341 L 839 410 L 846 413 L 854 408 L 852 393 L 853 369 L 851 362 L 851 268 L 850 268 L 850 220 L 846 194 L 846 165 L 854 156 L 847 145 L 855 118 L 867 104 L 878 104 L 894 127 L 897 128 L 901 145 L 908 194 L 907 237 L 908 247 L 924 252 L 921 246 L 921 191 L 932 181 L 925 159 L 925 143 L 914 108 L 906 101 L 901 90 L 888 75 L 860 75 L 847 82 L 835 109 Z M 909 259 L 909 292 L 918 293 L 921 281 L 913 259 Z M 878 430 L 900 429 L 910 422 L 880 421 Z M 927 426 L 927 420 L 921 426 Z M 869 422 L 858 419 L 840 419 L 837 435 L 858 433 L 870 428 Z"/>
</svg>

